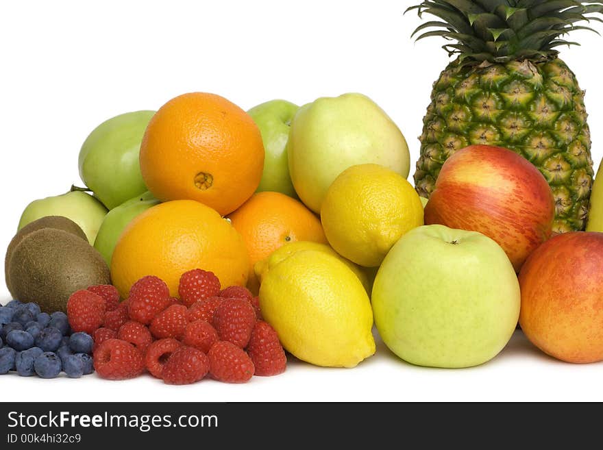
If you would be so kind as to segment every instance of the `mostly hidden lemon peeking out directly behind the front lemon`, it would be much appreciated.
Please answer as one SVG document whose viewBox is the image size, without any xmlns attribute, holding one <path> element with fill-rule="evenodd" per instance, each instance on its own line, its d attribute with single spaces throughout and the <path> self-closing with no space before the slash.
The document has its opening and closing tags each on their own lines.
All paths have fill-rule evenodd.
<svg viewBox="0 0 603 450">
<path fill-rule="evenodd" d="M 319 244 L 319 242 L 310 242 L 307 240 L 288 242 L 279 249 L 273 251 L 270 256 L 265 260 L 256 262 L 256 265 L 254 266 L 254 272 L 256 273 L 256 277 L 258 277 L 258 279 L 260 280 L 260 283 L 262 282 L 264 276 L 276 264 L 278 264 L 285 258 L 288 258 L 289 256 L 293 255 L 293 253 L 297 253 L 298 251 L 302 250 L 321 251 L 323 253 L 328 253 L 329 255 L 336 256 L 336 258 L 339 258 L 341 262 L 345 263 L 346 266 L 352 269 L 352 272 L 356 274 L 356 277 L 358 277 L 360 283 L 362 283 L 362 286 L 365 287 L 365 290 L 370 295 L 371 287 L 373 286 L 372 280 L 374 279 L 374 277 L 372 279 L 369 279 L 369 275 L 365 272 L 365 268 L 358 266 L 358 264 L 354 264 L 350 260 L 346 260 L 345 258 L 343 258 L 343 256 L 334 251 L 328 245 Z"/>
</svg>

